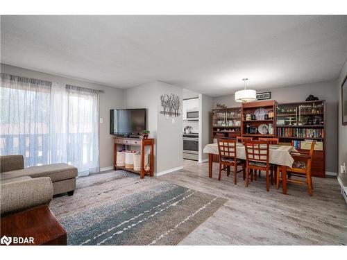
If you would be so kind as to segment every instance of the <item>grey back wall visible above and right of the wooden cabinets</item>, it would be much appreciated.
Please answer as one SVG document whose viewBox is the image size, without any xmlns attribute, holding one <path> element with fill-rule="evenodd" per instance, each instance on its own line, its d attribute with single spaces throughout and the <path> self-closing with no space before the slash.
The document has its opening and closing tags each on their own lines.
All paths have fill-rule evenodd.
<svg viewBox="0 0 347 260">
<path fill-rule="evenodd" d="M 338 95 L 336 92 L 336 80 L 324 83 L 312 83 L 306 85 L 281 87 L 278 89 L 262 90 L 258 92 L 271 92 L 271 99 L 278 103 L 305 101 L 307 96 L 313 94 L 321 100 L 326 101 L 326 153 L 325 171 L 328 174 L 337 173 L 337 107 Z M 219 96 L 213 98 L 216 103 L 226 104 L 228 107 L 239 107 L 235 102 L 234 95 Z"/>
</svg>

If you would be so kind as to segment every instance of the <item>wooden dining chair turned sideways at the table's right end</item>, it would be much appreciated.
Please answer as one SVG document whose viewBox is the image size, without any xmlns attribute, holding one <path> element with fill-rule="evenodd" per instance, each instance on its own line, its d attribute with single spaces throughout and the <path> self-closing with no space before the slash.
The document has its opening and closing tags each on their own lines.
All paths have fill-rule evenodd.
<svg viewBox="0 0 347 260">
<path fill-rule="evenodd" d="M 306 152 L 292 152 L 291 157 L 294 159 L 294 163 L 291 167 L 287 167 L 287 182 L 293 182 L 298 184 L 307 185 L 308 194 L 313 196 L 313 184 L 312 184 L 312 175 L 311 175 L 311 165 L 312 165 L 312 157 L 314 153 L 314 144 L 316 141 L 312 141 L 310 151 Z M 277 168 L 276 171 L 276 188 L 280 187 L 280 167 Z M 293 179 L 292 177 L 305 177 L 305 181 Z"/>
</svg>

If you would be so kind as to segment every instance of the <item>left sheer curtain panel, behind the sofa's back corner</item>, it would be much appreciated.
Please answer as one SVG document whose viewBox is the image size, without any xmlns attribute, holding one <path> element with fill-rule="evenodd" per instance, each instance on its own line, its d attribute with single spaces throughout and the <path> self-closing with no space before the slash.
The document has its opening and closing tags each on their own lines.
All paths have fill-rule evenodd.
<svg viewBox="0 0 347 260">
<path fill-rule="evenodd" d="M 1 155 L 22 154 L 25 166 L 48 164 L 51 83 L 1 73 Z"/>
</svg>

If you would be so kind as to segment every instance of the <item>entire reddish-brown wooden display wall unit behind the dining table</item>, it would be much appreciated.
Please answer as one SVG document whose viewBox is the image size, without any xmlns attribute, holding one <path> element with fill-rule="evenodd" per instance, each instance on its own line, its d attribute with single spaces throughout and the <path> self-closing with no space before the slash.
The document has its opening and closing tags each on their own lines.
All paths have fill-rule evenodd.
<svg viewBox="0 0 347 260">
<path fill-rule="evenodd" d="M 253 115 L 255 110 L 264 108 L 268 114 L 273 112 L 273 118 L 261 120 L 246 120 L 246 114 Z M 237 116 L 228 116 L 226 112 L 236 112 Z M 238 116 L 240 113 L 240 116 Z M 235 115 L 235 113 L 233 114 Z M 240 127 L 226 125 L 228 119 L 239 120 Z M 273 125 L 273 131 L 262 135 L 258 130 L 247 132 L 246 125 L 257 129 L 262 123 Z M 310 140 L 317 142 L 312 159 L 312 176 L 325 177 L 325 101 L 303 101 L 280 103 L 276 101 L 255 101 L 243 103 L 242 107 L 231 107 L 226 110 L 212 110 L 211 141 L 217 138 L 259 137 L 279 138 L 280 144 L 293 145 L 299 152 L 307 152 Z M 230 129 L 234 129 L 233 132 Z M 218 162 L 218 155 L 213 161 Z"/>
</svg>

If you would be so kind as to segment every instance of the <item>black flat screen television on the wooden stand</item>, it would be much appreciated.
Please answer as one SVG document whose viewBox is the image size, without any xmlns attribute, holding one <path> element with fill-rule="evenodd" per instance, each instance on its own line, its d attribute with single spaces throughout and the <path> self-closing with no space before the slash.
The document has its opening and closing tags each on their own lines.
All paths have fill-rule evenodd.
<svg viewBox="0 0 347 260">
<path fill-rule="evenodd" d="M 111 110 L 111 135 L 139 135 L 146 130 L 146 108 Z"/>
</svg>

